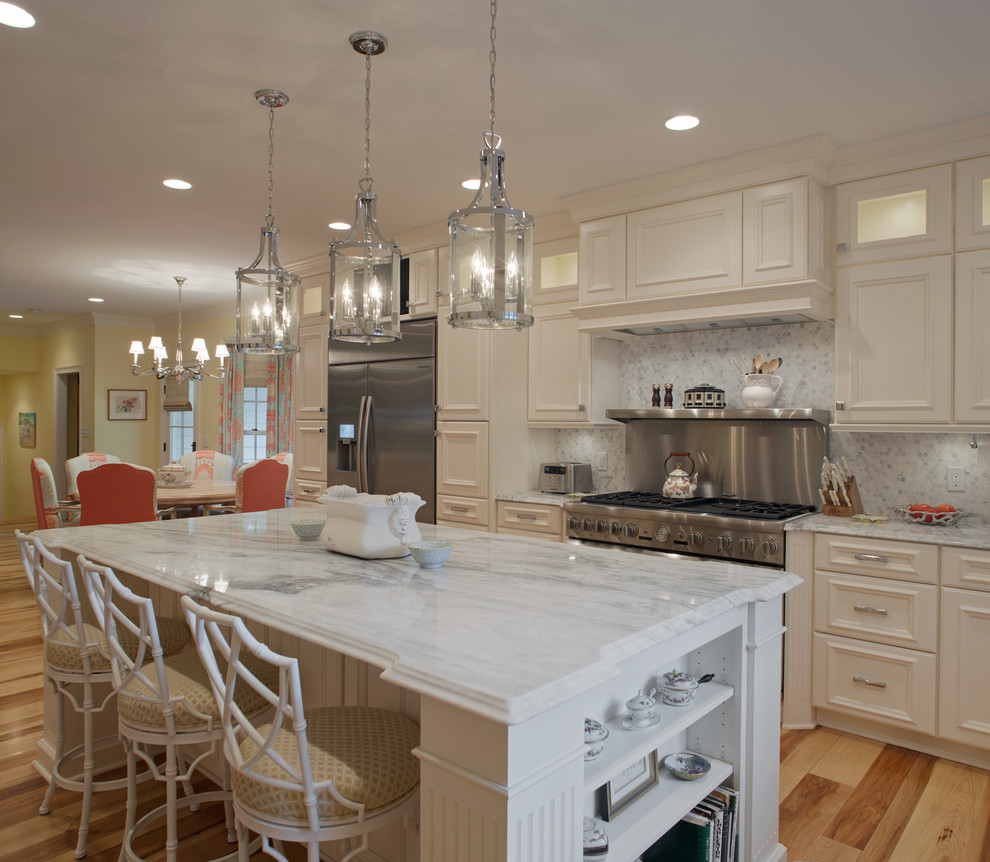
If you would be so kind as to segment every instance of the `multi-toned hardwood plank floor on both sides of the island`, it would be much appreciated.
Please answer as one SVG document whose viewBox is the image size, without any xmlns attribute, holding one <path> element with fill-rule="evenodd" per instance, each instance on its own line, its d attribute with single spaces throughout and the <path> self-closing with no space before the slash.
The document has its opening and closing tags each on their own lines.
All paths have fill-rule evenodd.
<svg viewBox="0 0 990 862">
<path fill-rule="evenodd" d="M 0 655 L 0 859 L 71 860 L 79 794 L 59 790 L 52 813 L 38 814 L 46 782 L 31 760 L 42 734 L 41 635 L 9 524 L 0 528 Z M 990 772 L 823 727 L 783 733 L 780 760 L 789 862 L 990 862 Z M 142 784 L 141 810 L 162 794 L 155 782 Z M 116 862 L 123 806 L 123 790 L 94 796 L 90 862 Z M 230 849 L 222 822 L 219 806 L 183 816 L 183 862 Z M 138 851 L 156 840 L 152 833 Z M 286 850 L 305 858 L 301 848 Z"/>
</svg>

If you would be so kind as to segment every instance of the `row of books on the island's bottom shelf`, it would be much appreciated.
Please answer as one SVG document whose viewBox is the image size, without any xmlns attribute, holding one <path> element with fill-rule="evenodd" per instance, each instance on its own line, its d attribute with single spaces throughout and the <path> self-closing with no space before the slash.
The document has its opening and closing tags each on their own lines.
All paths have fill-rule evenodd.
<svg viewBox="0 0 990 862">
<path fill-rule="evenodd" d="M 717 787 L 640 858 L 642 862 L 739 862 L 739 791 Z"/>
</svg>

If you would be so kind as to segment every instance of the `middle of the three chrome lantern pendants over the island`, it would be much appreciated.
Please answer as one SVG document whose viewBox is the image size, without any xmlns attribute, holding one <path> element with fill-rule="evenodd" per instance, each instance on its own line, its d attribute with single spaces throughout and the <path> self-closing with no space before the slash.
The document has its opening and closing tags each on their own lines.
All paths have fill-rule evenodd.
<svg viewBox="0 0 990 862">
<path fill-rule="evenodd" d="M 402 254 L 378 229 L 371 190 L 371 58 L 383 53 L 388 41 L 370 30 L 352 33 L 350 39 L 354 50 L 364 54 L 364 177 L 358 181 L 354 228 L 330 243 L 330 337 L 366 344 L 398 341 Z"/>
</svg>

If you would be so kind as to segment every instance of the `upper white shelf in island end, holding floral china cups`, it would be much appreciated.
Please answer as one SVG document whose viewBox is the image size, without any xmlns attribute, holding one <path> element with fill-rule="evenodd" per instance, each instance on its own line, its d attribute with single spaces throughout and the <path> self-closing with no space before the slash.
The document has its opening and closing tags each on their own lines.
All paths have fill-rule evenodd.
<svg viewBox="0 0 990 862">
<path fill-rule="evenodd" d="M 627 730 L 622 726 L 622 716 L 606 720 L 608 739 L 605 740 L 605 750 L 596 760 L 584 764 L 585 793 L 601 787 L 633 761 L 662 748 L 667 740 L 725 703 L 734 692 L 730 685 L 708 682 L 698 686 L 690 706 L 668 706 L 659 702 L 656 712 L 660 715 L 660 723 L 644 730 Z"/>
</svg>

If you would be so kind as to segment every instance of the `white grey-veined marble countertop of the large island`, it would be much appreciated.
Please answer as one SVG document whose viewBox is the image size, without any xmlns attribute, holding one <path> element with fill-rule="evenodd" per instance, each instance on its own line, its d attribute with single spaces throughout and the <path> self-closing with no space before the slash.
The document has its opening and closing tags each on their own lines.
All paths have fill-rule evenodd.
<svg viewBox="0 0 990 862">
<path fill-rule="evenodd" d="M 291 510 L 40 531 L 130 572 L 384 669 L 382 678 L 509 724 L 590 691 L 617 663 L 793 574 L 445 528 L 443 568 L 303 542 Z M 424 538 L 437 530 L 421 525 Z"/>
</svg>

